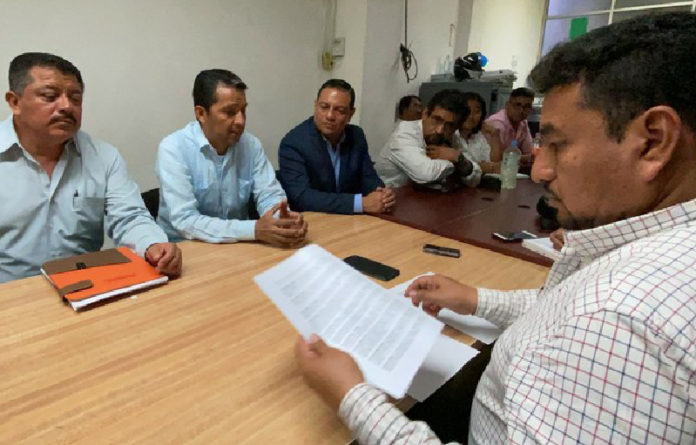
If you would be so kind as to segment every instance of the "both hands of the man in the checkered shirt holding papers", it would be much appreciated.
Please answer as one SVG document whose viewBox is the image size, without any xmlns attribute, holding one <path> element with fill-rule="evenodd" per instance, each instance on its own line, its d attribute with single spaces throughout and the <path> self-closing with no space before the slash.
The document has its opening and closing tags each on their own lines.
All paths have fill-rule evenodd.
<svg viewBox="0 0 696 445">
<path fill-rule="evenodd" d="M 410 298 L 414 306 L 422 305 L 433 316 L 444 308 L 473 314 L 478 304 L 476 288 L 442 275 L 418 278 L 406 289 L 404 297 Z M 307 384 L 335 411 L 346 393 L 365 380 L 349 354 L 328 346 L 316 335 L 308 340 L 302 336 L 297 339 L 295 359 Z"/>
</svg>

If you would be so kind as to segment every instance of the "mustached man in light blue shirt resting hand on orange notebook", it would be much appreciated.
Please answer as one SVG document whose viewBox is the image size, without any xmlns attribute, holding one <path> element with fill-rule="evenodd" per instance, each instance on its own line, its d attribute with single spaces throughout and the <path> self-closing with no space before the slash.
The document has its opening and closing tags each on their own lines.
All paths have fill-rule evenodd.
<svg viewBox="0 0 696 445">
<path fill-rule="evenodd" d="M 84 84 L 67 60 L 21 54 L 10 63 L 12 116 L 0 123 L 0 282 L 40 273 L 53 258 L 116 244 L 161 272 L 181 272 L 118 151 L 79 131 Z"/>
</svg>

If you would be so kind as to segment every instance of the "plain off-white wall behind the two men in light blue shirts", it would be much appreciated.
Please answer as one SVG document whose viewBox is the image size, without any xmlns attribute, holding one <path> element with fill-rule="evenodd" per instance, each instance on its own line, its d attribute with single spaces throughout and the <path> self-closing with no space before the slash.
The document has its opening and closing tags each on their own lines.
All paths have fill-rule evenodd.
<svg viewBox="0 0 696 445">
<path fill-rule="evenodd" d="M 148 189 L 157 186 L 159 141 L 193 119 L 201 69 L 231 69 L 249 85 L 247 129 L 277 162 L 280 139 L 311 114 L 327 77 L 319 60 L 325 7 L 324 0 L 0 0 L 0 70 L 24 51 L 72 61 L 86 83 L 83 129 L 116 145 Z"/>
</svg>

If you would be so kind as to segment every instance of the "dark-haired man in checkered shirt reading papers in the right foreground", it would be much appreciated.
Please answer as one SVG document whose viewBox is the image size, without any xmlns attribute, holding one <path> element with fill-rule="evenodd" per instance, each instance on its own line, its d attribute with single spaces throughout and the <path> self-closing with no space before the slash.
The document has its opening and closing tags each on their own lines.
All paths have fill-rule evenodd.
<svg viewBox="0 0 696 445">
<path fill-rule="evenodd" d="M 696 441 L 696 15 L 642 16 L 553 49 L 532 176 L 567 229 L 541 290 L 446 277 L 406 291 L 505 327 L 469 442 Z M 353 359 L 299 339 L 307 382 L 361 443 L 438 442 Z"/>
</svg>

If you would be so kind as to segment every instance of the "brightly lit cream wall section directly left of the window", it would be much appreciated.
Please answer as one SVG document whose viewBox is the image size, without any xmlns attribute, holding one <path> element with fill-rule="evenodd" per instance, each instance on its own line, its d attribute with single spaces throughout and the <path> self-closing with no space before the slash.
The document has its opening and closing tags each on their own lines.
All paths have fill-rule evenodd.
<svg viewBox="0 0 696 445">
<path fill-rule="evenodd" d="M 486 70 L 512 69 L 525 86 L 537 62 L 545 0 L 473 0 L 469 52 L 488 57 Z"/>
</svg>

